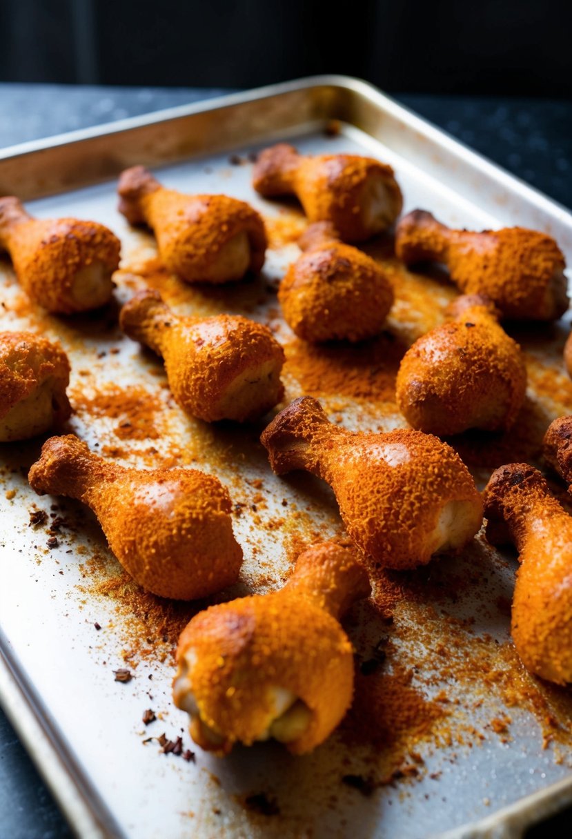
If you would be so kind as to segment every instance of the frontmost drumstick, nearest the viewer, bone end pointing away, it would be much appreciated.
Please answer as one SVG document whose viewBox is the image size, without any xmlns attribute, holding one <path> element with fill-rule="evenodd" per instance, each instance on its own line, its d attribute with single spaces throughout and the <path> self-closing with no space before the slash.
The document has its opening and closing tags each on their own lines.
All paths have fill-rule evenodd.
<svg viewBox="0 0 572 839">
<path fill-rule="evenodd" d="M 370 593 L 351 550 L 299 555 L 280 591 L 200 612 L 179 638 L 174 702 L 202 748 L 268 737 L 295 754 L 322 743 L 351 705 L 353 654 L 338 619 Z"/>
</svg>

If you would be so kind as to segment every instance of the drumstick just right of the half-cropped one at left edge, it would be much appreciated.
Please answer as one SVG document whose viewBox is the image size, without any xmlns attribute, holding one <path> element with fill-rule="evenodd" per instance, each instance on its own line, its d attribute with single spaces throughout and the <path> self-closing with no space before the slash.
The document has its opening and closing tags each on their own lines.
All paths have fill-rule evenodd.
<svg viewBox="0 0 572 839">
<path fill-rule="evenodd" d="M 122 330 L 164 358 L 177 404 L 206 422 L 254 420 L 282 399 L 284 353 L 272 332 L 240 315 L 178 317 L 157 291 L 123 306 Z"/>
</svg>

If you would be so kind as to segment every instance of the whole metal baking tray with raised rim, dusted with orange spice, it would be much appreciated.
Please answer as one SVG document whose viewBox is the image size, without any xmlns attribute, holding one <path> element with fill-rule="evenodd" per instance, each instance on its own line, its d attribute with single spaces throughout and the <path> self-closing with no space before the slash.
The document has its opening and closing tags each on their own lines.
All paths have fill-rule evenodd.
<svg viewBox="0 0 572 839">
<path fill-rule="evenodd" d="M 293 242 L 304 220 L 292 206 L 284 209 L 260 200 L 249 185 L 248 153 L 278 139 L 289 139 L 309 153 L 350 150 L 377 156 L 396 169 L 406 210 L 425 206 L 444 221 L 466 227 L 521 224 L 542 229 L 572 259 L 572 217 L 564 208 L 371 86 L 336 76 L 225 96 L 7 149 L 0 155 L 0 193 L 19 195 L 39 216 L 74 215 L 112 227 L 123 244 L 119 302 L 138 284 L 155 284 L 180 311 L 246 313 L 269 322 L 292 347 L 273 287 L 298 253 Z M 115 179 L 121 169 L 137 163 L 158 169 L 164 183 L 179 190 L 226 192 L 257 206 L 268 220 L 273 242 L 262 279 L 213 292 L 190 289 L 153 268 L 152 237 L 131 230 L 115 209 Z M 376 251 L 374 246 L 373 253 L 398 273 L 387 248 Z M 245 548 L 242 581 L 227 594 L 277 586 L 297 540 L 307 543 L 340 532 L 335 503 L 324 487 L 269 473 L 257 446 L 259 429 L 210 428 L 182 417 L 169 399 L 160 365 L 122 338 L 113 310 L 79 320 L 51 318 L 26 304 L 8 262 L 2 263 L 0 274 L 5 328 L 59 336 L 70 354 L 75 406 L 70 430 L 121 461 L 189 464 L 214 471 L 226 482 L 239 505 L 234 526 Z M 401 300 L 398 296 L 388 333 L 411 342 L 439 319 L 453 292 L 439 277 L 407 274 L 398 282 L 407 294 Z M 423 306 L 417 310 L 415 301 L 425 305 L 428 294 L 434 298 L 434 312 Z M 560 363 L 564 326 L 518 337 L 529 356 L 533 413 L 548 425 L 551 416 L 572 411 L 563 377 L 552 393 L 541 387 L 544 373 Z M 121 416 L 94 409 L 94 393 L 103 390 L 117 397 L 117 388 L 121 393 L 138 388 L 155 400 L 153 423 L 145 433 L 118 436 Z M 289 398 L 308 389 L 289 373 Z M 320 397 L 330 414 L 352 427 L 383 430 L 403 423 L 391 404 L 369 405 L 343 387 L 330 393 L 322 388 Z M 125 590 L 95 519 L 80 505 L 36 498 L 29 491 L 25 470 L 38 452 L 37 440 L 0 451 L 0 697 L 79 835 L 351 832 L 401 839 L 452 831 L 451 836 L 516 837 L 531 821 L 572 800 L 568 743 L 564 735 L 561 742 L 545 737 L 543 743 L 542 709 L 535 711 L 532 700 L 507 705 L 506 690 L 499 692 L 494 680 L 483 683 L 478 675 L 472 680 L 468 667 L 465 682 L 455 684 L 460 664 L 449 676 L 435 664 L 444 644 L 445 651 L 449 644 L 446 659 L 455 659 L 460 649 L 469 663 L 480 655 L 491 657 L 497 644 L 506 656 L 502 662 L 495 659 L 491 672 L 504 682 L 527 680 L 510 659 L 503 607 L 516 564 L 486 549 L 482 540 L 460 557 L 439 560 L 432 571 L 436 579 L 425 581 L 426 596 L 419 597 L 418 586 L 413 602 L 402 600 L 392 628 L 382 628 L 366 607 L 351 614 L 348 631 L 359 655 L 367 655 L 380 633 L 389 634 L 390 676 L 393 665 L 407 668 L 413 690 L 428 702 L 438 703 L 442 691 L 448 692 L 446 716 L 419 736 L 414 748 L 411 738 L 402 769 L 390 783 L 377 783 L 376 755 L 366 743 L 348 745 L 343 726 L 304 758 L 291 758 L 268 743 L 237 749 L 224 762 L 197 748 L 195 762 L 189 763 L 160 753 L 156 740 L 145 741 L 163 731 L 168 737 L 181 733 L 185 748 L 192 746 L 181 731 L 185 715 L 170 702 L 172 638 L 169 628 L 161 637 L 158 618 L 163 609 L 175 625 L 185 612 L 173 614 L 168 604 Z M 52 504 L 58 509 L 52 510 Z M 34 505 L 65 519 L 55 548 L 46 546 L 44 529 L 29 527 Z M 475 569 L 478 579 L 471 581 Z M 439 589 L 453 576 L 465 577 L 471 585 L 457 585 L 455 597 L 444 600 Z M 418 584 L 420 580 L 416 578 Z M 121 666 L 133 670 L 127 684 L 113 680 L 112 670 Z M 523 696 L 536 690 L 538 702 L 547 703 L 546 714 L 559 707 L 564 727 L 570 708 L 565 692 L 554 694 L 533 680 L 526 685 Z M 141 715 L 149 706 L 159 720 L 146 728 Z M 377 759 L 383 762 L 383 747 L 377 748 Z M 399 773 L 406 777 L 400 779 Z M 361 784 L 361 791 L 354 782 L 347 783 L 348 778 L 366 776 L 369 786 Z"/>
</svg>

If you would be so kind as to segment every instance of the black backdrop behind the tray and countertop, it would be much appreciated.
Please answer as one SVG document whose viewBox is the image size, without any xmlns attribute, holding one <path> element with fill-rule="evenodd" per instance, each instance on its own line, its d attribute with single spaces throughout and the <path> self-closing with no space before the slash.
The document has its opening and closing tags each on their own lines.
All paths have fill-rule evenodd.
<svg viewBox="0 0 572 839">
<path fill-rule="evenodd" d="M 0 81 L 572 98 L 569 0 L 1 0 Z"/>
</svg>

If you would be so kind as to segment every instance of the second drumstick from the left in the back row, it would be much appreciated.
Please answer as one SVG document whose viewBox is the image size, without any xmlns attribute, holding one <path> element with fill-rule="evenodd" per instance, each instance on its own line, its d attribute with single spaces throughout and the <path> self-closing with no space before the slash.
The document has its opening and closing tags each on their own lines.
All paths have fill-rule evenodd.
<svg viewBox="0 0 572 839">
<path fill-rule="evenodd" d="M 183 195 L 165 189 L 143 166 L 119 179 L 119 211 L 151 227 L 165 266 L 188 283 L 226 283 L 263 267 L 262 217 L 227 195 Z"/>
</svg>

